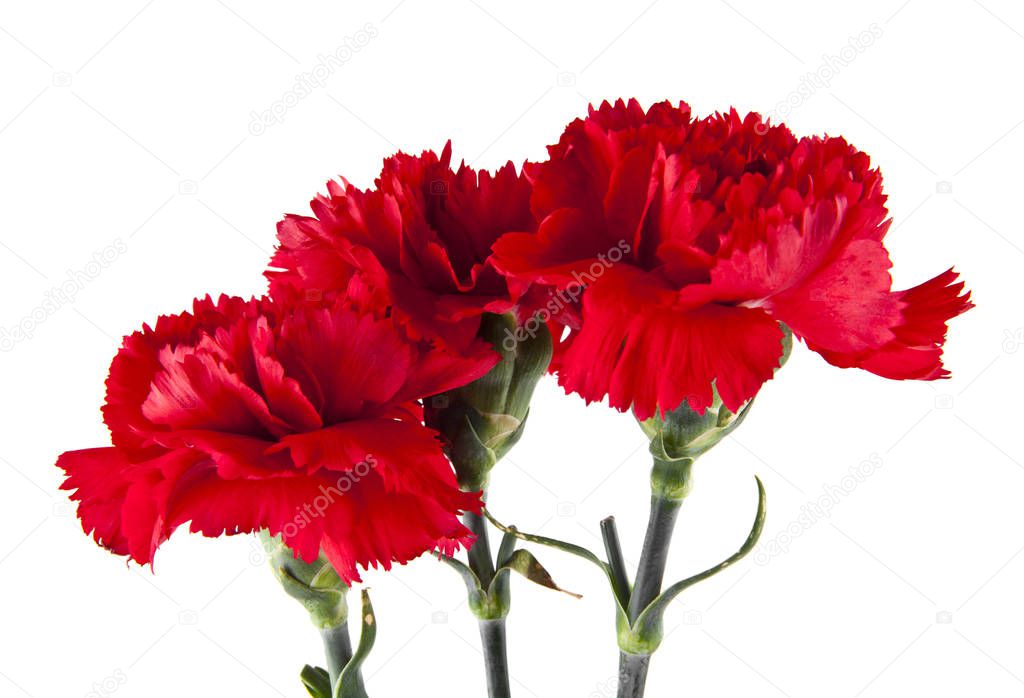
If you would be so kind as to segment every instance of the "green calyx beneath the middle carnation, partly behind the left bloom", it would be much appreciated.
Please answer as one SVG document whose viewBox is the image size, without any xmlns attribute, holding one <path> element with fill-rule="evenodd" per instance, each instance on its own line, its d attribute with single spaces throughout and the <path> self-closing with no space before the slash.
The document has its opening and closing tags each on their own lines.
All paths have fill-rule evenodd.
<svg viewBox="0 0 1024 698">
<path fill-rule="evenodd" d="M 501 354 L 485 376 L 426 401 L 427 424 L 446 440 L 459 485 L 484 489 L 495 464 L 522 435 L 534 388 L 551 362 L 545 324 L 519 326 L 513 313 L 485 313 L 479 337 Z"/>
</svg>

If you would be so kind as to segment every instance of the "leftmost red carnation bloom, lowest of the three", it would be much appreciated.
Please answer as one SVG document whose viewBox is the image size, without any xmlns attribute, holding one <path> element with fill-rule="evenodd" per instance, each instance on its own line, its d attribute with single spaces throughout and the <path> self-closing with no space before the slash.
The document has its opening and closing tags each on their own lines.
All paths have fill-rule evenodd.
<svg viewBox="0 0 1024 698">
<path fill-rule="evenodd" d="M 340 302 L 197 300 L 125 338 L 111 364 L 113 446 L 63 453 L 85 531 L 141 564 L 180 525 L 267 529 L 346 582 L 362 567 L 452 554 L 477 511 L 418 398 L 495 363 L 410 344 L 391 319 Z"/>
</svg>

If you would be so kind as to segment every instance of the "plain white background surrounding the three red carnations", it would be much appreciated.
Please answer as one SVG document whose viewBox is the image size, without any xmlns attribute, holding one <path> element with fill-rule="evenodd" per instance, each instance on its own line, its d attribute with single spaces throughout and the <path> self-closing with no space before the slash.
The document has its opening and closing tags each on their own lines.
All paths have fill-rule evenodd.
<svg viewBox="0 0 1024 698">
<path fill-rule="evenodd" d="M 36 316 L 0 354 L 0 695 L 291 697 L 319 661 L 249 537 L 179 533 L 152 573 L 82 534 L 53 462 L 108 443 L 98 407 L 121 335 L 196 295 L 261 293 L 279 218 L 338 174 L 369 185 L 398 147 L 452 137 L 478 167 L 537 159 L 606 97 L 772 113 L 872 25 L 881 37 L 785 121 L 843 134 L 882 167 L 898 288 L 955 264 L 978 307 L 953 322 L 950 381 L 887 382 L 798 348 L 701 461 L 670 577 L 739 544 L 754 474 L 769 494 L 764 540 L 786 552 L 761 549 L 685 595 L 649 695 L 1024 695 L 1024 6 L 395 2 L 0 6 L 0 328 Z M 368 24 L 376 36 L 323 87 L 250 130 Z M 115 259 L 81 280 L 104 251 Z M 73 301 L 45 309 L 69 273 Z M 844 488 L 871 459 L 874 473 Z M 592 548 L 614 513 L 635 562 L 647 468 L 628 416 L 547 380 L 494 475 L 493 510 Z M 828 491 L 830 516 L 801 523 Z M 607 590 L 583 563 L 538 554 L 585 598 L 514 582 L 515 694 L 613 695 Z M 367 580 L 373 695 L 482 695 L 449 569 L 428 557 Z"/>
</svg>

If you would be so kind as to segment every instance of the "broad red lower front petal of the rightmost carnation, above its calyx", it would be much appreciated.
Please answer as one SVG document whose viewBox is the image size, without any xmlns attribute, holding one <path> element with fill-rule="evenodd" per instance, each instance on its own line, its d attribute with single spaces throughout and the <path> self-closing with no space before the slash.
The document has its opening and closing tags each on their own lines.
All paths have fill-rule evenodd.
<svg viewBox="0 0 1024 698">
<path fill-rule="evenodd" d="M 647 419 L 685 399 L 702 411 L 713 384 L 737 410 L 772 377 L 782 351 L 778 323 L 762 310 L 675 307 L 650 275 L 614 268 L 584 295 L 583 330 L 560 363 L 560 383 L 590 400 Z"/>
</svg>

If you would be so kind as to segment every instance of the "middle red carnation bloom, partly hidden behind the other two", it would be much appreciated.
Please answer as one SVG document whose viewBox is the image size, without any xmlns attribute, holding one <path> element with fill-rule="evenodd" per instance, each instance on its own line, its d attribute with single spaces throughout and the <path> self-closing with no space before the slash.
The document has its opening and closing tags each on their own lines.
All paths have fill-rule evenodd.
<svg viewBox="0 0 1024 698">
<path fill-rule="evenodd" d="M 453 171 L 451 159 L 449 142 L 440 157 L 387 159 L 373 189 L 328 182 L 310 204 L 314 217 L 278 224 L 270 295 L 341 292 L 390 309 L 414 337 L 472 340 L 483 312 L 513 308 L 490 247 L 504 232 L 534 229 L 530 189 L 511 163 L 490 174 Z"/>
</svg>

